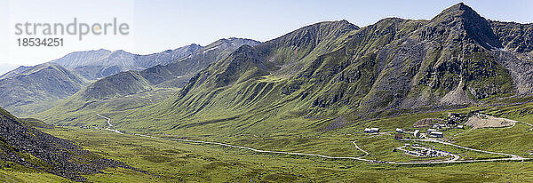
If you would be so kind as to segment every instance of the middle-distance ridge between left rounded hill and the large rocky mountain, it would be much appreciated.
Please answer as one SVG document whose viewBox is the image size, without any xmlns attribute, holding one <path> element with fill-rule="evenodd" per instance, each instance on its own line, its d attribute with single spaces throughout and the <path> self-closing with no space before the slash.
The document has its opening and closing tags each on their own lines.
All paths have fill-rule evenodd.
<svg viewBox="0 0 533 183">
<path fill-rule="evenodd" d="M 171 97 L 191 76 L 216 60 L 226 58 L 244 44 L 257 45 L 250 39 L 220 39 L 189 57 L 143 71 L 121 72 L 85 87 L 55 107 L 33 117 L 56 123 L 84 125 L 95 113 L 124 114 Z"/>
</svg>

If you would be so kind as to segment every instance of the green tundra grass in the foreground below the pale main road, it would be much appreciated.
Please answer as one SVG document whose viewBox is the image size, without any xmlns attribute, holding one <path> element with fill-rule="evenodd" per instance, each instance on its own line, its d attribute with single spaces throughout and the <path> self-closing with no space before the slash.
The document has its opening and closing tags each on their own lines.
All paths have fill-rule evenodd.
<svg viewBox="0 0 533 183">
<path fill-rule="evenodd" d="M 533 163 L 456 163 L 437 165 L 387 165 L 327 160 L 300 155 L 257 154 L 211 145 L 147 139 L 108 131 L 73 128 L 47 129 L 73 139 L 94 153 L 128 163 L 149 174 L 107 169 L 87 176 L 90 181 L 532 181 Z"/>
</svg>

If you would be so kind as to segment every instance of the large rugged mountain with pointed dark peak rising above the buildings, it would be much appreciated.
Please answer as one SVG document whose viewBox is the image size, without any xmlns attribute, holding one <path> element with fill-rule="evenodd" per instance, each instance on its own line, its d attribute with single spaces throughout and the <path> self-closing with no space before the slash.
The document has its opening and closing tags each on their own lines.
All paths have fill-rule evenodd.
<svg viewBox="0 0 533 183">
<path fill-rule="evenodd" d="M 532 94 L 529 32 L 530 25 L 489 21 L 465 4 L 432 20 L 316 23 L 237 49 L 154 115 L 178 117 L 173 128 L 181 128 L 220 114 L 371 118 L 488 105 Z"/>
</svg>

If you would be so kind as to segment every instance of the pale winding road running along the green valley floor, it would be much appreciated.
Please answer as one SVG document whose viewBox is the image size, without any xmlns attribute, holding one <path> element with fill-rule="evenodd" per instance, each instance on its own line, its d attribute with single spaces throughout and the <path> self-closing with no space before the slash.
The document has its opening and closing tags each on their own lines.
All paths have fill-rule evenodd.
<svg viewBox="0 0 533 183">
<path fill-rule="evenodd" d="M 104 115 L 99 115 L 99 114 L 97 114 L 97 115 L 99 117 L 107 119 L 107 124 L 109 125 L 109 127 L 111 127 L 111 128 L 113 127 L 113 125 L 110 122 L 111 118 L 109 118 L 107 116 L 104 116 Z M 269 151 L 269 150 L 260 150 L 260 149 L 256 149 L 256 148 L 252 148 L 252 147 L 235 146 L 235 145 L 230 145 L 230 144 L 225 144 L 225 143 L 202 141 L 202 140 L 195 140 L 195 139 L 170 139 L 170 138 L 160 138 L 160 137 L 154 137 L 154 136 L 137 134 L 137 133 L 125 133 L 125 132 L 118 131 L 118 130 L 111 129 L 111 128 L 107 128 L 105 130 L 113 131 L 113 132 L 116 132 L 116 133 L 119 133 L 119 134 L 135 135 L 135 136 L 145 137 L 145 138 L 150 138 L 150 139 L 162 139 L 162 140 L 192 142 L 192 143 L 200 143 L 200 144 L 212 144 L 212 145 L 219 145 L 219 146 L 223 146 L 223 147 L 235 147 L 235 148 L 251 150 L 253 152 L 258 152 L 258 153 L 270 153 L 270 154 L 280 154 L 280 155 L 307 155 L 307 156 L 322 157 L 322 158 L 327 158 L 327 159 L 358 160 L 358 161 L 364 161 L 364 162 L 370 162 L 370 163 L 390 163 L 390 164 L 476 163 L 476 162 L 497 162 L 497 161 L 523 161 L 523 160 L 529 159 L 529 158 L 520 157 L 518 155 L 510 155 L 510 156 L 512 156 L 511 158 L 483 159 L 483 160 L 447 160 L 447 161 L 435 161 L 435 162 L 386 162 L 386 161 L 378 161 L 378 160 L 370 160 L 370 159 L 362 158 L 362 157 L 364 157 L 366 155 L 369 155 L 370 153 L 365 151 L 365 150 L 362 150 L 362 148 L 360 148 L 359 146 L 357 146 L 357 144 L 355 144 L 355 141 L 352 141 L 352 143 L 354 144 L 355 148 L 357 148 L 358 150 L 361 150 L 363 153 L 365 153 L 365 155 L 358 156 L 358 157 L 350 157 L 350 156 L 336 157 L 336 156 L 330 156 L 330 155 L 318 155 L 318 154 L 310 154 L 310 153 L 293 153 L 293 152 L 283 152 L 283 151 Z M 423 141 L 423 140 L 420 140 L 420 141 Z M 438 141 L 438 140 L 433 141 L 433 142 L 436 142 L 436 143 L 447 143 L 447 142 L 442 142 L 442 141 Z M 447 144 L 450 145 L 450 146 L 454 146 L 454 147 L 460 147 L 460 146 L 457 146 L 457 145 L 454 145 L 454 144 L 451 144 L 451 143 L 447 143 Z M 472 149 L 474 151 L 484 152 L 484 151 L 481 151 L 481 150 L 478 150 L 478 149 L 473 149 L 473 148 L 468 148 L 468 147 L 464 147 L 464 148 L 465 149 Z M 486 151 L 486 152 L 489 152 L 489 151 Z M 490 152 L 490 154 L 508 155 L 508 154 L 500 154 L 500 153 L 494 153 L 494 152 Z M 520 157 L 520 158 L 517 159 L 517 158 L 514 158 L 514 157 Z"/>
</svg>

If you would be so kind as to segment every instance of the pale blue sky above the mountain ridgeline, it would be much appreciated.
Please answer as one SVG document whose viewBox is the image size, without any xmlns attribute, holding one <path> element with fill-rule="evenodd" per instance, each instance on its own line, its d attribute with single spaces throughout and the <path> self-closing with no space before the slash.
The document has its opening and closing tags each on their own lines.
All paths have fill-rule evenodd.
<svg viewBox="0 0 533 183">
<path fill-rule="evenodd" d="M 68 52 L 125 50 L 147 54 L 219 38 L 267 41 L 323 20 L 348 20 L 364 27 L 386 17 L 431 19 L 450 5 L 465 2 L 490 20 L 533 22 L 533 1 L 163 1 L 163 0 L 0 0 L 0 64 L 36 65 Z M 130 24 L 129 36 L 66 38 L 62 47 L 26 48 L 16 44 L 16 22 L 107 22 Z M 3 65 L 0 65 L 3 66 Z"/>
</svg>

